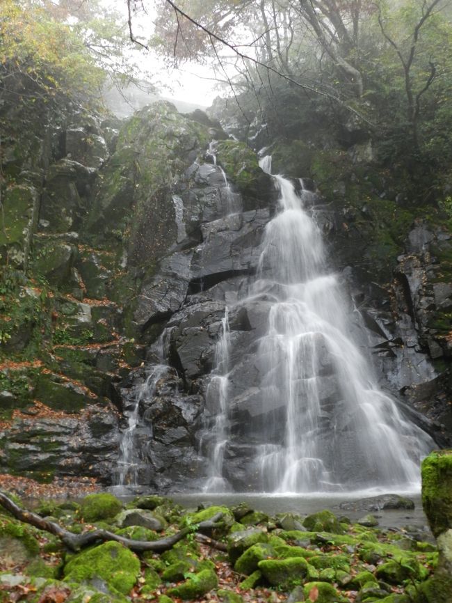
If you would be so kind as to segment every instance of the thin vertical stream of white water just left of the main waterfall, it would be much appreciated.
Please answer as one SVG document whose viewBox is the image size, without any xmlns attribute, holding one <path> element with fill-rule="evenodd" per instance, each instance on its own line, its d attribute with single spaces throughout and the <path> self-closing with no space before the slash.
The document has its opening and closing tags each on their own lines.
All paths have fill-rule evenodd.
<svg viewBox="0 0 452 603">
<path fill-rule="evenodd" d="M 209 474 L 204 492 L 229 492 L 231 488 L 223 477 L 223 460 L 228 441 L 228 385 L 229 385 L 229 316 L 221 322 L 222 332 L 215 350 L 215 370 L 207 386 L 207 406 L 215 415 L 213 440 L 209 443 Z"/>
</svg>

